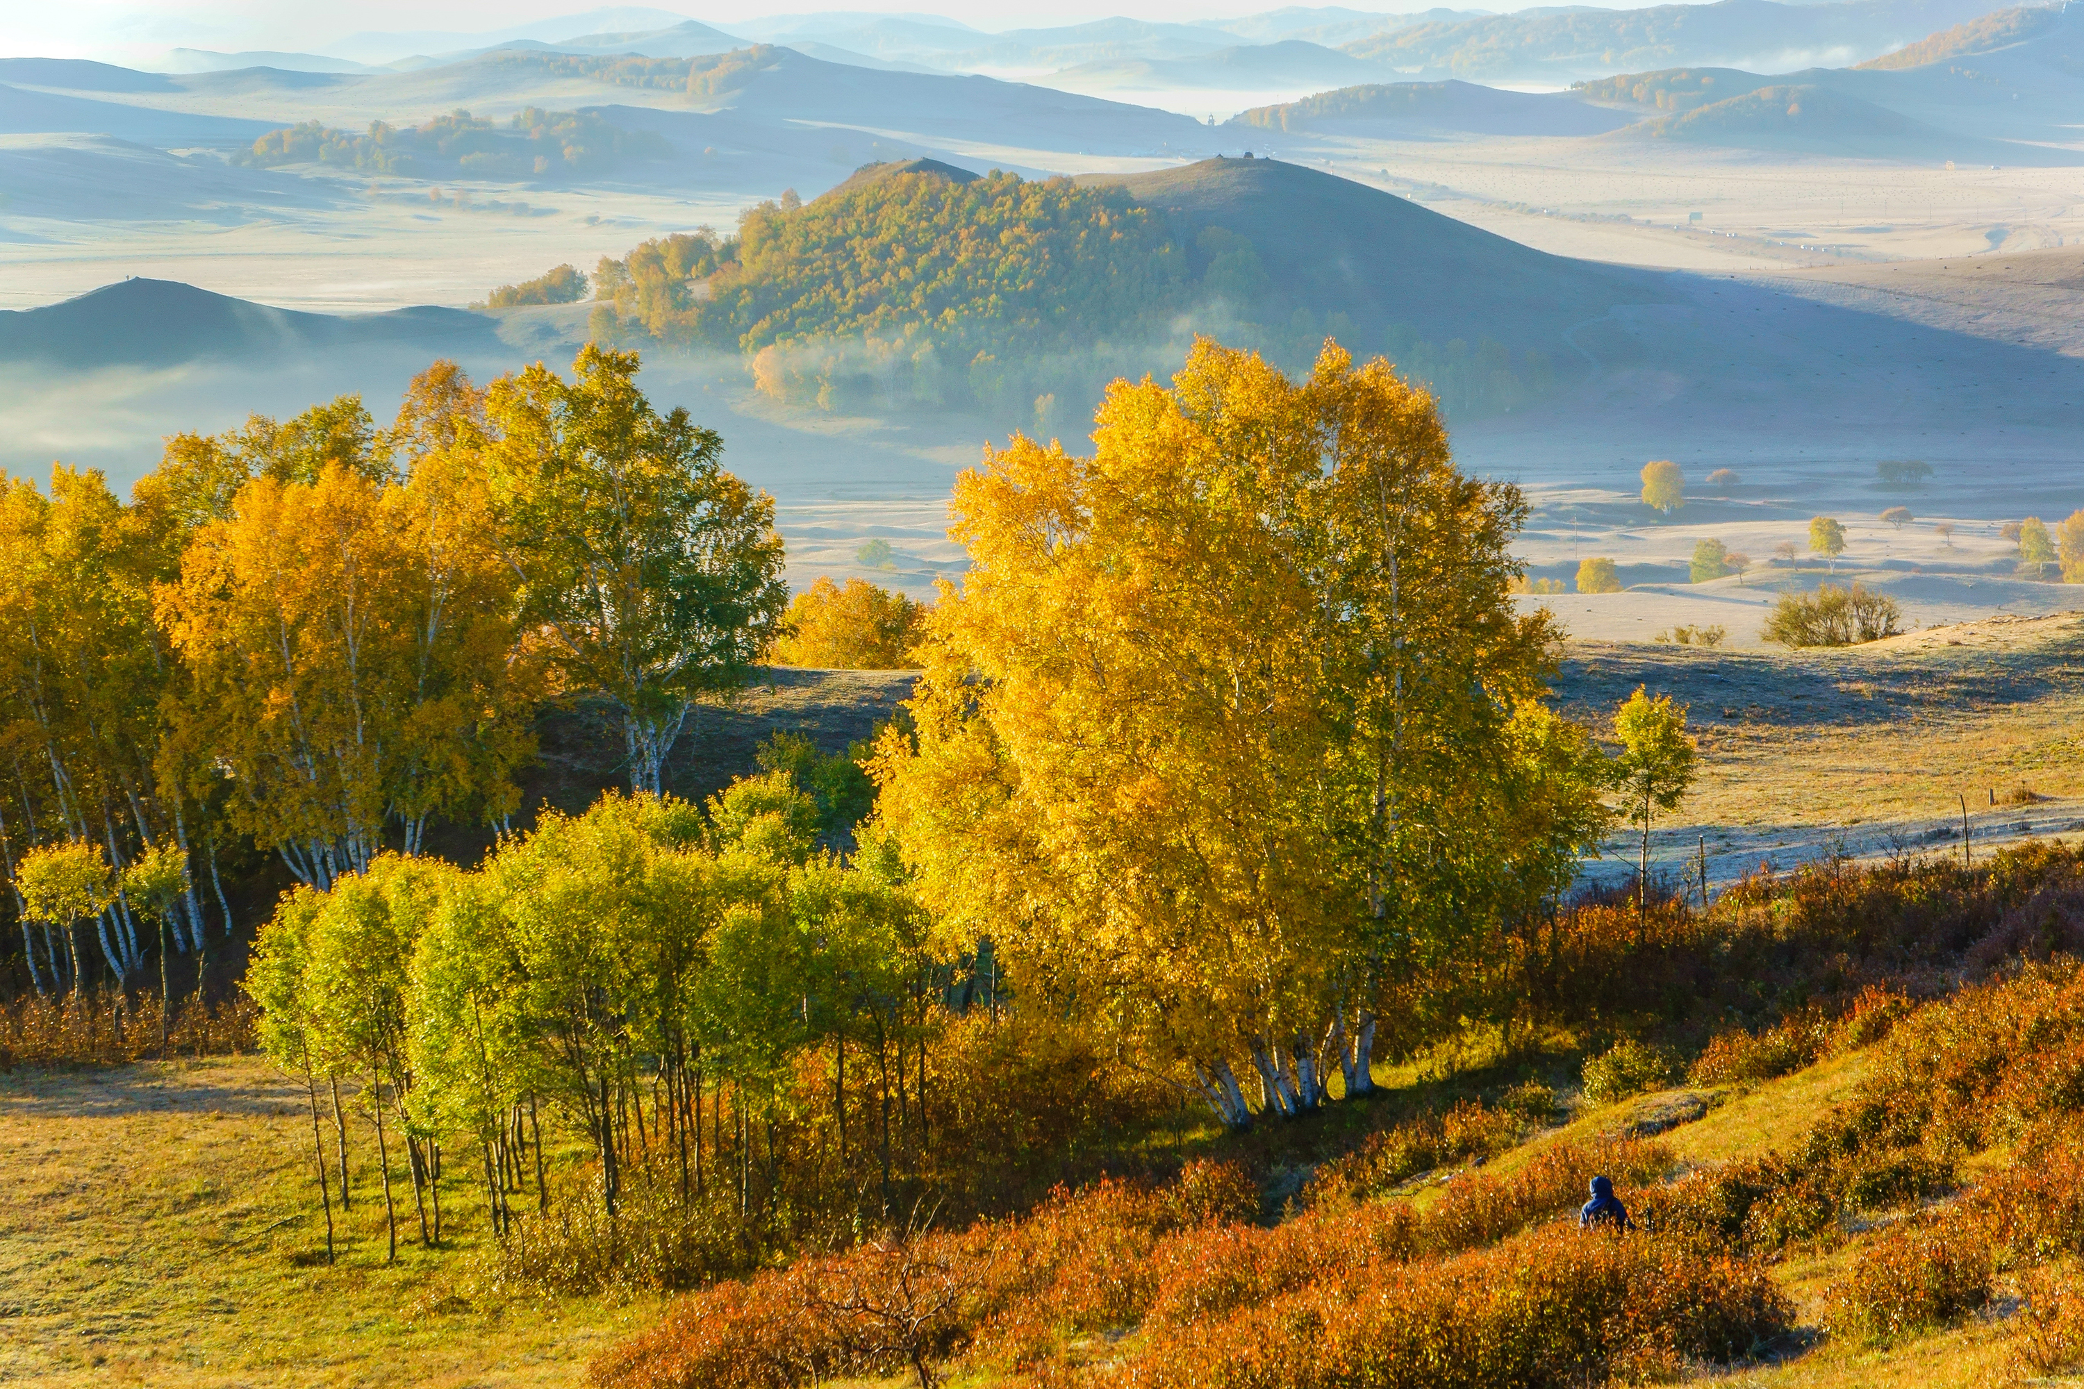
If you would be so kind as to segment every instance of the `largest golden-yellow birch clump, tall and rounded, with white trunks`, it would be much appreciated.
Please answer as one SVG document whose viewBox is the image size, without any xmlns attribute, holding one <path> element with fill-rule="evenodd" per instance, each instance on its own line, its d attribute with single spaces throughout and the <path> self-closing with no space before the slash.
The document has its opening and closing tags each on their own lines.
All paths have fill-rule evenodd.
<svg viewBox="0 0 2084 1389">
<path fill-rule="evenodd" d="M 879 814 L 950 929 L 1225 1122 L 1232 1058 L 1271 1114 L 1328 1054 L 1359 1093 L 1380 1006 L 1494 918 L 1496 766 L 1548 646 L 1505 594 L 1523 504 L 1334 346 L 1290 383 L 1196 344 L 1173 389 L 1117 383 L 1094 446 L 959 479 L 971 569 Z"/>
</svg>

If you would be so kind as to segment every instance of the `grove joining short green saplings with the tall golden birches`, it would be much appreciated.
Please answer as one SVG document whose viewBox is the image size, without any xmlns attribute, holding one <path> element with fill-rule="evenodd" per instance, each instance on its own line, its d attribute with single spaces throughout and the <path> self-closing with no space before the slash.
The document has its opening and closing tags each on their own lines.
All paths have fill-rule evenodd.
<svg viewBox="0 0 2084 1389">
<path fill-rule="evenodd" d="M 790 641 L 852 614 L 923 666 L 873 754 L 779 741 L 704 810 L 634 777 L 471 873 L 371 841 L 290 895 L 248 989 L 329 1189 L 346 1104 L 429 1243 L 461 1154 L 504 1277 L 684 1285 L 1017 1206 L 1167 1106 L 1357 1100 L 1378 1045 L 1509 1018 L 1605 798 L 1646 835 L 1684 793 L 1682 712 L 1638 693 L 1609 756 L 1546 706 L 1525 504 L 1382 360 L 1296 383 L 1205 342 L 1096 425 L 959 481 L 932 614 L 798 604 Z M 592 1150 L 554 1202 L 544 1122 Z"/>
</svg>

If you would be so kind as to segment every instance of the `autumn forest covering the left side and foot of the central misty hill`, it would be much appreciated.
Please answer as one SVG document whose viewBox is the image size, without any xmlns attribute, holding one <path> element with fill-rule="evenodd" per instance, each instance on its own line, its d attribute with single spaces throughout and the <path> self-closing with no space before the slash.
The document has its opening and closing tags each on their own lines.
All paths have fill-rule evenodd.
<svg viewBox="0 0 2084 1389">
<path fill-rule="evenodd" d="M 1367 342 L 1340 312 L 1290 304 L 1252 244 L 1184 233 L 1121 187 L 1011 173 L 863 171 L 838 190 L 752 208 L 738 235 L 644 242 L 594 271 L 600 342 L 740 354 L 769 398 L 821 408 L 979 408 L 1040 435 L 1107 381 L 1163 371 L 1190 329 L 1309 371 L 1325 335 Z M 1496 414 L 1553 389 L 1540 352 L 1373 344 L 1455 414 Z"/>
</svg>

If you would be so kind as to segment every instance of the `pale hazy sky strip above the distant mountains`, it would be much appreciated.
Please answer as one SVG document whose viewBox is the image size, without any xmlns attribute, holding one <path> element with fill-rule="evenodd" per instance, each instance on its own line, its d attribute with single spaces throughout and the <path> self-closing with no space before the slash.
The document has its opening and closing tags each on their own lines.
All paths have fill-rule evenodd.
<svg viewBox="0 0 2084 1389">
<path fill-rule="evenodd" d="M 1440 0 L 1453 4 L 1455 0 Z M 1488 0 L 1467 8 L 1517 10 L 1534 0 Z M 1646 0 L 1648 2 L 1648 0 Z M 902 0 L 900 0 L 902 4 Z M 704 4 L 663 2 L 650 8 L 729 27 L 763 15 L 809 10 L 892 12 L 900 4 L 871 6 L 819 0 L 715 0 Z M 1223 19 L 1277 8 L 1280 0 L 1000 0 L 992 4 L 919 4 L 977 29 L 1061 25 L 1109 15 L 1134 19 Z M 1636 0 L 1607 0 L 1611 8 L 1636 8 Z M 273 48 L 325 52 L 327 42 L 354 31 L 488 31 L 561 15 L 600 8 L 590 0 L 356 0 L 352 6 L 308 4 L 306 0 L 38 0 L 0 2 L 0 52 L 8 56 L 146 56 L 165 48 L 215 48 L 225 52 Z M 1361 0 L 1357 10 L 1419 10 L 1428 0 L 1388 4 Z M 1457 8 L 1463 8 L 1457 4 Z"/>
</svg>

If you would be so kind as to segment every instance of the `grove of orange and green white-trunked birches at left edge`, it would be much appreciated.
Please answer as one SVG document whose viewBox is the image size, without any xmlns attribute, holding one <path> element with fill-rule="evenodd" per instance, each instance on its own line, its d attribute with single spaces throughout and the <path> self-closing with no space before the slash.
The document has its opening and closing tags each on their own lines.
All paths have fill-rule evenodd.
<svg viewBox="0 0 2084 1389">
<path fill-rule="evenodd" d="M 388 429 L 344 396 L 175 435 L 129 504 L 63 464 L 48 496 L 8 479 L 0 862 L 35 993 L 138 983 L 154 923 L 177 954 L 225 935 L 219 864 L 250 845 L 323 889 L 429 825 L 506 827 L 552 696 L 602 700 L 659 789 L 786 589 L 771 502 L 636 371 L 588 348 L 571 381 L 479 389 L 438 362 Z"/>
</svg>

